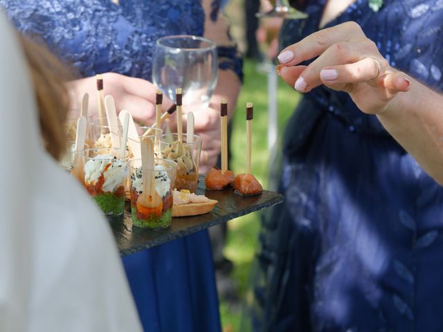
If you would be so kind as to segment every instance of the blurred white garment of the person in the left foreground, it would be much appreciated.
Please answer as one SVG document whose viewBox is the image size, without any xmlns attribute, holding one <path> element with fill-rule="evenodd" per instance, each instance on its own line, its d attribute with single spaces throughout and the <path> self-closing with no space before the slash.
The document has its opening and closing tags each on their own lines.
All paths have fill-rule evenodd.
<svg viewBox="0 0 443 332">
<path fill-rule="evenodd" d="M 0 331 L 141 331 L 107 220 L 42 147 L 0 13 Z"/>
</svg>

